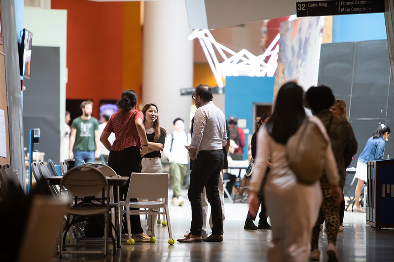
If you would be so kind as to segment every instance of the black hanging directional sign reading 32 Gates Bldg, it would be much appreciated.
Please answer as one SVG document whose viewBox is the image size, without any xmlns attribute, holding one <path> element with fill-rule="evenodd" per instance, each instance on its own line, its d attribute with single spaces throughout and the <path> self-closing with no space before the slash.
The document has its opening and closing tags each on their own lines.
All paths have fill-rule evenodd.
<svg viewBox="0 0 394 262">
<path fill-rule="evenodd" d="M 385 0 L 322 0 L 296 2 L 297 17 L 382 13 Z"/>
</svg>

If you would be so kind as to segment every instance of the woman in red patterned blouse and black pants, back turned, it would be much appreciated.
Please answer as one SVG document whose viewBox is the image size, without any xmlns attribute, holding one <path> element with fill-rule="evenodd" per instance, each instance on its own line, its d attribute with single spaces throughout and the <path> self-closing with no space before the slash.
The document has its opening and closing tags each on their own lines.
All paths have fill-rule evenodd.
<svg viewBox="0 0 394 262">
<path fill-rule="evenodd" d="M 133 90 L 125 90 L 116 105 L 119 111 L 109 118 L 100 141 L 109 150 L 108 166 L 117 175 L 130 177 L 131 173 L 141 173 L 141 157 L 148 152 L 149 143 L 143 127 L 143 113 L 137 109 L 138 95 Z M 108 141 L 111 133 L 115 133 L 112 146 Z M 120 188 L 120 197 L 126 200 L 129 181 Z M 126 200 L 130 201 L 130 200 Z M 137 201 L 137 199 L 131 199 Z M 150 237 L 143 233 L 139 215 L 131 215 L 131 237 L 136 242 L 150 242 Z M 125 226 L 126 228 L 126 226 Z M 122 241 L 128 236 L 122 235 Z"/>
</svg>

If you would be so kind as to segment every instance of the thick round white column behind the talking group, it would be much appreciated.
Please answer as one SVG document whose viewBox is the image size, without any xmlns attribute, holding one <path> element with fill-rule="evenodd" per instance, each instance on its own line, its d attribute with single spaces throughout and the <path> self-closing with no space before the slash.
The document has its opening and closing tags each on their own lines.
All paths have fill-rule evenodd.
<svg viewBox="0 0 394 262">
<path fill-rule="evenodd" d="M 173 131 L 173 120 L 181 117 L 188 128 L 190 96 L 180 89 L 193 84 L 193 41 L 184 0 L 145 1 L 143 26 L 142 106 L 154 103 L 160 126 Z"/>
</svg>

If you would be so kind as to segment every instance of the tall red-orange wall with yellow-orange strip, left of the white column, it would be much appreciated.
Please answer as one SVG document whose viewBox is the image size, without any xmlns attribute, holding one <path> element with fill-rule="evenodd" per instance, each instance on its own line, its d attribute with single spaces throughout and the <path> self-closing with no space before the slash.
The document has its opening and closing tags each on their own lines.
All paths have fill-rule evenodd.
<svg viewBox="0 0 394 262">
<path fill-rule="evenodd" d="M 68 10 L 66 99 L 92 99 L 99 105 L 102 99 L 118 99 L 124 89 L 141 86 L 139 2 L 52 0 L 51 4 L 52 9 Z M 99 107 L 93 110 L 98 117 Z"/>
</svg>

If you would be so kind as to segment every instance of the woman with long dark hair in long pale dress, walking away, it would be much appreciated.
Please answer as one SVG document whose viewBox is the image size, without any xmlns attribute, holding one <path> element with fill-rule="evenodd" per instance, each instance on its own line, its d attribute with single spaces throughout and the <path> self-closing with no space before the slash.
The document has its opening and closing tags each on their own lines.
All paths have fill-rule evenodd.
<svg viewBox="0 0 394 262">
<path fill-rule="evenodd" d="M 264 189 L 267 214 L 272 226 L 268 251 L 270 262 L 308 261 L 309 240 L 322 202 L 319 181 L 313 185 L 299 183 L 288 166 L 286 156 L 287 139 L 306 119 L 302 101 L 302 87 L 294 82 L 285 84 L 278 92 L 272 117 L 257 134 L 249 210 L 253 215 L 258 211 L 260 202 L 257 193 L 267 169 L 267 159 L 271 157 L 272 166 Z M 324 129 L 321 131 L 325 132 Z M 327 163 L 330 168 L 326 166 L 326 170 L 330 171 L 327 176 L 334 185 L 333 194 L 339 196 L 341 189 L 334 156 L 332 150 L 327 152 L 327 158 L 331 159 Z"/>
</svg>

